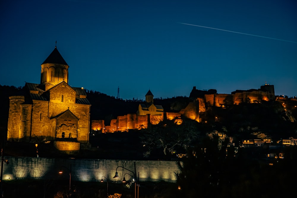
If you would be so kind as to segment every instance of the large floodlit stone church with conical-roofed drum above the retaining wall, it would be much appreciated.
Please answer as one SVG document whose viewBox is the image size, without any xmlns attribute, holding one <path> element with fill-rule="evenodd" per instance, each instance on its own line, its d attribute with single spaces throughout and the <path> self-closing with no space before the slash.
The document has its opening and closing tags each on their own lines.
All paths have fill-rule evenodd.
<svg viewBox="0 0 297 198">
<path fill-rule="evenodd" d="M 55 140 L 59 150 L 79 150 L 89 141 L 90 102 L 83 88 L 68 85 L 68 64 L 57 47 L 41 64 L 40 84 L 26 83 L 10 96 L 7 140 Z"/>
</svg>

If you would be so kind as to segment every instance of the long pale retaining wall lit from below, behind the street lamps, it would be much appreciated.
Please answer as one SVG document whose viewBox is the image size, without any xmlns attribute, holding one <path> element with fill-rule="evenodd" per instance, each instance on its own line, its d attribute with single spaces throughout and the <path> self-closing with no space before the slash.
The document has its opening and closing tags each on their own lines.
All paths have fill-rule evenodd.
<svg viewBox="0 0 297 198">
<path fill-rule="evenodd" d="M 134 162 L 136 167 L 136 177 L 141 181 L 175 182 L 174 172 L 178 171 L 175 161 L 131 161 L 131 160 L 108 160 L 108 159 L 54 159 L 54 158 L 14 158 L 7 157 L 9 164 L 3 165 L 3 179 L 50 179 L 69 180 L 69 170 L 71 166 L 71 180 L 73 181 L 97 181 L 102 176 L 111 181 L 120 183 L 121 179 L 113 179 L 116 171 L 121 178 L 125 173 L 133 175 Z M 122 166 L 128 170 L 123 169 Z M 68 169 L 66 169 L 67 167 Z M 118 167 L 118 168 L 117 168 Z M 58 172 L 62 169 L 63 174 Z M 130 176 L 125 175 L 126 180 Z"/>
</svg>

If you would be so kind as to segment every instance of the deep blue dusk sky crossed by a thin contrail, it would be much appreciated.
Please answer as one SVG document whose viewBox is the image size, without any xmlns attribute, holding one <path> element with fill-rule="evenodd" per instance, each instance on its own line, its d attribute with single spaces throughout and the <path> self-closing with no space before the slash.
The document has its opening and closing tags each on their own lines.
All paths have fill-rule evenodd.
<svg viewBox="0 0 297 198">
<path fill-rule="evenodd" d="M 296 10 L 291 0 L 3 0 L 0 84 L 40 83 L 57 40 L 69 85 L 110 96 L 118 86 L 121 98 L 144 99 L 265 82 L 296 96 Z"/>
</svg>

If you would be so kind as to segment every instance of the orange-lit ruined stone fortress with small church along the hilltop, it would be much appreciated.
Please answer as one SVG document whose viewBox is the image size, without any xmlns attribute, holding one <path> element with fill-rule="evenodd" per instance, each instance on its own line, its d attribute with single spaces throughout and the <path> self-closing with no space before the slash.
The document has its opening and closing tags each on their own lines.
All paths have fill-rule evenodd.
<svg viewBox="0 0 297 198">
<path fill-rule="evenodd" d="M 95 131 L 115 132 L 128 131 L 129 129 L 146 128 L 149 124 L 157 124 L 163 119 L 176 120 L 181 123 L 179 118 L 181 115 L 201 122 L 200 113 L 206 111 L 207 107 L 225 107 L 225 105 L 240 104 L 242 102 L 257 103 L 261 101 L 275 100 L 274 85 L 265 84 L 260 89 L 236 90 L 231 94 L 217 94 L 217 90 L 210 89 L 208 91 L 197 90 L 194 86 L 190 98 L 194 102 L 190 102 L 186 108 L 178 113 L 164 112 L 163 107 L 154 105 L 153 94 L 149 91 L 146 94 L 146 102 L 139 104 L 138 111 L 135 114 L 127 114 L 118 116 L 113 119 L 110 126 L 104 125 L 104 120 L 93 120 L 91 129 Z"/>
</svg>

